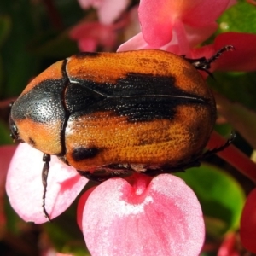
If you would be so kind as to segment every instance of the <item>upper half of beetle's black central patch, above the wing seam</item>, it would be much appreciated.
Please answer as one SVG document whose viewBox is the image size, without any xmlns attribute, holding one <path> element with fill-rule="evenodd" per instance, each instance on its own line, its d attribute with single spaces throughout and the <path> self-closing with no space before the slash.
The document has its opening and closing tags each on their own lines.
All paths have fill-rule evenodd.
<svg viewBox="0 0 256 256">
<path fill-rule="evenodd" d="M 190 98 L 195 102 L 208 102 L 207 99 L 182 90 L 172 76 L 152 75 L 150 73 L 127 73 L 115 83 L 97 83 L 87 79 L 69 78 L 72 84 L 79 84 L 84 88 L 105 97 L 135 97 L 135 96 L 166 96 Z"/>
</svg>

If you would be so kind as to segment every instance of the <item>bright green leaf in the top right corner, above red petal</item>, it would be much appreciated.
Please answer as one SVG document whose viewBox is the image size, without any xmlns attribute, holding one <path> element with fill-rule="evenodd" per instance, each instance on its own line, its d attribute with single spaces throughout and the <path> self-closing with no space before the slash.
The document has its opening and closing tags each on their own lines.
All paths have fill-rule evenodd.
<svg viewBox="0 0 256 256">
<path fill-rule="evenodd" d="M 256 32 L 256 8 L 240 0 L 218 19 L 218 32 Z"/>
</svg>

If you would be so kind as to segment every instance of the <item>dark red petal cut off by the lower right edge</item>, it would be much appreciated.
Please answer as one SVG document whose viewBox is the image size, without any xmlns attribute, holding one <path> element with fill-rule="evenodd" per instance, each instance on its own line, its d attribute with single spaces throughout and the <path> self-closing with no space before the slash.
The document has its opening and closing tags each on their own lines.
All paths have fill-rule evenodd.
<svg viewBox="0 0 256 256">
<path fill-rule="evenodd" d="M 256 189 L 248 195 L 241 213 L 241 242 L 247 250 L 256 253 Z"/>
</svg>

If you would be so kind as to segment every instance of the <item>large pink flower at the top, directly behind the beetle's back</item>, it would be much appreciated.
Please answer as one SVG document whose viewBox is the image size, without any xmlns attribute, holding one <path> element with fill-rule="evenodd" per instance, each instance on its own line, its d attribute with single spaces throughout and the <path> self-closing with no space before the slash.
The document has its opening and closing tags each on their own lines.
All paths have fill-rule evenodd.
<svg viewBox="0 0 256 256">
<path fill-rule="evenodd" d="M 142 0 L 138 10 L 142 33 L 121 45 L 119 51 L 156 48 L 189 56 L 191 48 L 215 32 L 218 16 L 235 3 L 235 0 Z"/>
</svg>

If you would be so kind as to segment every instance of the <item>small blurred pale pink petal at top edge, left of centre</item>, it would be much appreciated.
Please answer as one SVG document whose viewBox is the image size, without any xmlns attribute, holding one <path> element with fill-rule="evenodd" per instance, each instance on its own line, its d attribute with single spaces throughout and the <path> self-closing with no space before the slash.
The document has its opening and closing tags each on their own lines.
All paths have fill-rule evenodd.
<svg viewBox="0 0 256 256">
<path fill-rule="evenodd" d="M 90 6 L 96 8 L 100 22 L 106 25 L 117 20 L 129 2 L 129 0 L 79 0 L 79 4 L 83 9 L 88 9 Z"/>
</svg>

